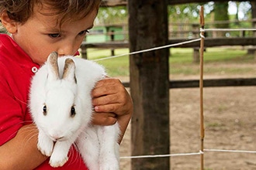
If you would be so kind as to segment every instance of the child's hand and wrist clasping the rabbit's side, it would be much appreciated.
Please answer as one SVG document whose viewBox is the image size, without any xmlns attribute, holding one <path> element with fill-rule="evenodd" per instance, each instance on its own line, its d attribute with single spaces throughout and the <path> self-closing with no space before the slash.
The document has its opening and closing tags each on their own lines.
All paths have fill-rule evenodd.
<svg viewBox="0 0 256 170">
<path fill-rule="evenodd" d="M 107 78 L 95 85 L 92 97 L 96 112 L 93 123 L 111 125 L 118 121 L 121 131 L 119 142 L 121 142 L 133 114 L 133 101 L 130 94 L 120 80 Z"/>
</svg>

